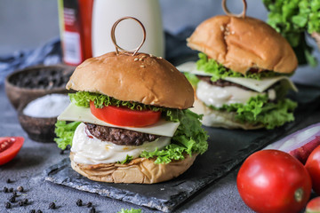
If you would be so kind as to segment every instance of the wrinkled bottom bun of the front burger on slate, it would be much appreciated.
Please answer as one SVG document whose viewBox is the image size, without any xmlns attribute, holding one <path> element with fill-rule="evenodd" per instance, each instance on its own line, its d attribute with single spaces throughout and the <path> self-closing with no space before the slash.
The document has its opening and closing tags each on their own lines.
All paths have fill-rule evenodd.
<svg viewBox="0 0 320 213">
<path fill-rule="evenodd" d="M 71 167 L 84 177 L 94 181 L 126 184 L 155 184 L 180 176 L 193 164 L 197 154 L 186 155 L 184 160 L 156 164 L 153 159 L 136 158 L 126 164 L 100 163 L 95 165 L 74 162 Z"/>
</svg>

